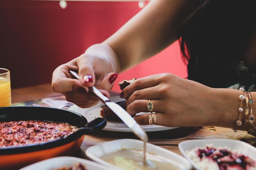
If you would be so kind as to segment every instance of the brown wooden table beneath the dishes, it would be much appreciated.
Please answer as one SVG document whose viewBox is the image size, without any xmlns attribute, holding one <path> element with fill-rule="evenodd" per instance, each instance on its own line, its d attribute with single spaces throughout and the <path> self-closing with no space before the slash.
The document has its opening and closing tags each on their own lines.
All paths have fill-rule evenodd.
<svg viewBox="0 0 256 170">
<path fill-rule="evenodd" d="M 56 97 L 61 95 L 60 93 L 54 93 L 52 91 L 50 84 L 42 84 L 38 86 L 31 86 L 26 88 L 17 88 L 11 91 L 12 96 L 12 103 L 16 102 L 27 102 L 36 99 L 43 99 L 48 97 Z M 122 138 L 134 138 L 136 137 L 131 133 L 126 132 L 109 132 L 109 131 L 101 131 L 95 135 L 85 135 L 83 144 L 81 145 L 82 152 L 77 153 L 75 156 L 77 157 L 85 157 L 84 152 L 86 148 L 98 144 L 104 141 L 111 141 L 115 139 L 122 139 Z M 176 139 L 176 140 L 150 140 L 149 142 L 158 146 L 161 146 L 165 149 L 171 150 L 177 154 L 180 154 L 178 149 L 178 144 L 181 141 L 189 140 L 189 139 L 238 139 L 246 141 L 250 144 L 255 144 L 256 138 L 247 135 L 246 132 L 233 132 L 233 130 L 228 128 L 218 128 L 215 127 L 215 131 L 209 130 L 196 130 L 194 131 L 193 135 L 189 138 L 184 139 Z"/>
</svg>

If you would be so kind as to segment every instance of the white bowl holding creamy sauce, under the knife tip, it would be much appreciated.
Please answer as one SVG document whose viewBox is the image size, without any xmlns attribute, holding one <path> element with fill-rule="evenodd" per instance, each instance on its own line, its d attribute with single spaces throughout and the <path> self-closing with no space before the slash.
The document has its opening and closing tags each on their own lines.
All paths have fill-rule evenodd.
<svg viewBox="0 0 256 170">
<path fill-rule="evenodd" d="M 106 161 L 103 161 L 101 157 L 103 157 L 104 155 L 110 154 L 112 152 L 117 152 L 121 149 L 142 150 L 143 145 L 144 145 L 143 141 L 136 140 L 136 139 L 118 139 L 118 140 L 108 141 L 98 145 L 91 146 L 85 151 L 85 154 L 87 157 L 89 157 L 93 161 L 102 163 L 112 168 L 117 168 L 116 166 Z M 178 166 L 180 170 L 190 170 L 192 168 L 189 161 L 187 161 L 184 157 L 174 152 L 171 152 L 169 150 L 166 150 L 164 148 L 161 148 L 159 146 L 155 146 L 153 144 L 147 143 L 146 151 L 172 160 L 173 161 L 172 163 Z"/>
</svg>

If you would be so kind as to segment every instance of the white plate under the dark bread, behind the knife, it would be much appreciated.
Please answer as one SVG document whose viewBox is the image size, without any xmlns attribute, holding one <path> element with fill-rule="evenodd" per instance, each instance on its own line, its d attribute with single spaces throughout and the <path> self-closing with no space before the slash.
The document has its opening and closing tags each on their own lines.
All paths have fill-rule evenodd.
<svg viewBox="0 0 256 170">
<path fill-rule="evenodd" d="M 124 99 L 120 98 L 119 95 L 117 95 L 117 93 L 111 93 L 110 100 L 112 102 L 119 102 Z M 92 121 L 93 119 L 96 119 L 97 117 L 101 117 L 99 113 L 101 110 L 100 107 L 102 105 L 103 104 L 101 102 L 99 102 L 99 104 L 91 108 L 79 108 L 78 106 L 73 105 L 68 110 L 72 110 L 76 113 L 83 115 L 89 122 L 89 121 Z M 140 115 L 140 114 L 145 114 L 145 113 L 138 113 L 137 115 Z M 141 127 L 146 132 L 155 132 L 155 131 L 170 130 L 170 129 L 177 128 L 177 127 L 166 127 L 166 126 L 158 126 L 158 125 L 143 125 Z M 121 121 L 107 121 L 107 125 L 103 128 L 103 130 L 115 131 L 115 132 L 132 132 L 130 128 L 128 128 L 128 126 L 126 126 L 126 124 L 124 124 Z"/>
</svg>

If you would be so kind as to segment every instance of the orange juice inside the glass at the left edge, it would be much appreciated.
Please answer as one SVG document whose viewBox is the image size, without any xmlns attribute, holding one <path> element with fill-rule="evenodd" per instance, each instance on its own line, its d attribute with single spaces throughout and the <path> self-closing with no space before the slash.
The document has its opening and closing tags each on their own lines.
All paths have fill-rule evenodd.
<svg viewBox="0 0 256 170">
<path fill-rule="evenodd" d="M 11 82 L 10 79 L 0 77 L 0 107 L 11 105 Z"/>
</svg>

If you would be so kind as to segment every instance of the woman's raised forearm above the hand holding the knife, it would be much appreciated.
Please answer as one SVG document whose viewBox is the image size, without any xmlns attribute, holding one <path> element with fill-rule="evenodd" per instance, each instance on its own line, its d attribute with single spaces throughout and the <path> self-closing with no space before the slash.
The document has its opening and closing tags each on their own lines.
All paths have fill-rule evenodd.
<svg viewBox="0 0 256 170">
<path fill-rule="evenodd" d="M 177 40 L 178 28 L 196 8 L 196 2 L 152 0 L 103 44 L 95 44 L 85 53 L 110 58 L 116 72 L 135 66 Z"/>
</svg>

